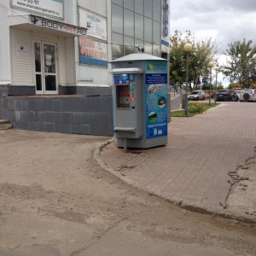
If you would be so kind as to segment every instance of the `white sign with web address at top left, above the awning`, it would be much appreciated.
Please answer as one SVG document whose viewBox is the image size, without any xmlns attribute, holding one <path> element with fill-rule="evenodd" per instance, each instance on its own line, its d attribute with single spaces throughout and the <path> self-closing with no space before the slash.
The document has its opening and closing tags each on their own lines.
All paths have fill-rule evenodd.
<svg viewBox="0 0 256 256">
<path fill-rule="evenodd" d="M 11 0 L 12 7 L 63 19 L 64 0 Z"/>
</svg>

